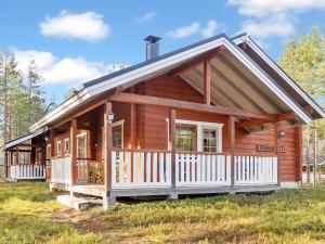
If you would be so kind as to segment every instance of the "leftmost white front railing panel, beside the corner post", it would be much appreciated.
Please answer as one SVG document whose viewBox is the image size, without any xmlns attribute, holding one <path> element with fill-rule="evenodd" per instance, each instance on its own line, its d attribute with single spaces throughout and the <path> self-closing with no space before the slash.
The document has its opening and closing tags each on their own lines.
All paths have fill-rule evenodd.
<svg viewBox="0 0 325 244">
<path fill-rule="evenodd" d="M 120 150 L 112 152 L 112 188 L 165 188 L 171 185 L 169 151 Z"/>
</svg>

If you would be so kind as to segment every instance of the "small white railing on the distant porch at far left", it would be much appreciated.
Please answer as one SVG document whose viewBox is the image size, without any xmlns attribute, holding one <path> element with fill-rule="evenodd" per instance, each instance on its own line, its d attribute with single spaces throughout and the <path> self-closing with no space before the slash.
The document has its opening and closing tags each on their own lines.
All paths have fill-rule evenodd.
<svg viewBox="0 0 325 244">
<path fill-rule="evenodd" d="M 46 179 L 44 165 L 11 165 L 10 178 L 14 180 Z"/>
</svg>

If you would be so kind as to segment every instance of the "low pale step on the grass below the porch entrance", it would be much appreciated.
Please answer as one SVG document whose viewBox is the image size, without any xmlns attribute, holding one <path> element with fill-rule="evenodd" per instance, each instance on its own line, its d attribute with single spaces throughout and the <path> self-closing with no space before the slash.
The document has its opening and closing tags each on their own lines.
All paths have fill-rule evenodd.
<svg viewBox="0 0 325 244">
<path fill-rule="evenodd" d="M 70 195 L 58 195 L 56 197 L 56 201 L 62 205 L 72 207 L 76 210 L 86 210 L 101 204 L 96 200 L 76 197 Z"/>
</svg>

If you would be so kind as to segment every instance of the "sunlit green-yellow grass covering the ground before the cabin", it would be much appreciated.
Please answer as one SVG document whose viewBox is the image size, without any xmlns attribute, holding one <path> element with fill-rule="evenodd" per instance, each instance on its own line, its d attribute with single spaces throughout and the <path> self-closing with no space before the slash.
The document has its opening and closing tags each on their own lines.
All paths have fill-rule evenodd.
<svg viewBox="0 0 325 244">
<path fill-rule="evenodd" d="M 0 243 L 325 243 L 325 184 L 77 213 L 47 183 L 0 183 Z"/>
</svg>

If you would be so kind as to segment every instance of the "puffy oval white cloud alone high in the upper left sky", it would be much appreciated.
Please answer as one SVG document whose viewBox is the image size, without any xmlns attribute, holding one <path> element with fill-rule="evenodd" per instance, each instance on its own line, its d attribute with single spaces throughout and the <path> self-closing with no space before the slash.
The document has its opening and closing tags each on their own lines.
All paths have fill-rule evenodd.
<svg viewBox="0 0 325 244">
<path fill-rule="evenodd" d="M 64 10 L 58 16 L 47 17 L 40 23 L 40 34 L 62 39 L 98 42 L 108 36 L 109 26 L 104 23 L 103 15 L 95 12 L 74 14 Z"/>
</svg>

